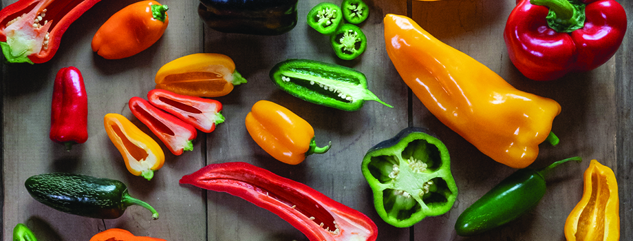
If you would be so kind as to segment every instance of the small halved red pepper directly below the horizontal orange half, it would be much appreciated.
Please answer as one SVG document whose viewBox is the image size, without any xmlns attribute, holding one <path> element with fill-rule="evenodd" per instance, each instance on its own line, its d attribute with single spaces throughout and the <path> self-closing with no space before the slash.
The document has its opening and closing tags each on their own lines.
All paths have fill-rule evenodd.
<svg viewBox="0 0 633 241">
<path fill-rule="evenodd" d="M 224 122 L 222 103 L 208 98 L 175 94 L 155 89 L 147 93 L 149 103 L 178 116 L 202 132 L 213 132 L 215 126 Z"/>
</svg>

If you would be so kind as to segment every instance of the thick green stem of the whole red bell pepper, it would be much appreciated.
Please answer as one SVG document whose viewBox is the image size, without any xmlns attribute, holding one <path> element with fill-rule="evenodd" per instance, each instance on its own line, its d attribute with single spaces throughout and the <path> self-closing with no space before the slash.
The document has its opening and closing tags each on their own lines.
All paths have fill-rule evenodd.
<svg viewBox="0 0 633 241">
<path fill-rule="evenodd" d="M 585 4 L 577 0 L 530 0 L 550 9 L 547 23 L 556 32 L 573 32 L 585 25 Z"/>
</svg>

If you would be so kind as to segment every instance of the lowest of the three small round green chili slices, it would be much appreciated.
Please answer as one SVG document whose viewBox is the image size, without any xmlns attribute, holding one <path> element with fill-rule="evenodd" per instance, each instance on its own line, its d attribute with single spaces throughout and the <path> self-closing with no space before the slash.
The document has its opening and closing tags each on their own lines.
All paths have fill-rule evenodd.
<svg viewBox="0 0 633 241">
<path fill-rule="evenodd" d="M 330 36 L 336 56 L 344 60 L 356 59 L 367 49 L 367 37 L 361 28 L 345 23 Z"/>
</svg>

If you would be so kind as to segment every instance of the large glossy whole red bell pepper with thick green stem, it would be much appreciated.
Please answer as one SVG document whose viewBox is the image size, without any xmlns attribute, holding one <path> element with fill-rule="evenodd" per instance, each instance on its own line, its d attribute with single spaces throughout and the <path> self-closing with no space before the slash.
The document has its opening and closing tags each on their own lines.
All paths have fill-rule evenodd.
<svg viewBox="0 0 633 241">
<path fill-rule="evenodd" d="M 550 81 L 608 61 L 626 24 L 624 8 L 614 0 L 517 0 L 504 39 L 522 74 Z"/>
</svg>

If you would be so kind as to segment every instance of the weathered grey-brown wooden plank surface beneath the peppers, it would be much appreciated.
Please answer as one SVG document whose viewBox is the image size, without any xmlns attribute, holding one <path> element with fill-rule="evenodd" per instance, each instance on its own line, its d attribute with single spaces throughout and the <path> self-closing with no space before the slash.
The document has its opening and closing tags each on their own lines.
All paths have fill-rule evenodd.
<svg viewBox="0 0 633 241">
<path fill-rule="evenodd" d="M 1 6 L 15 1 L 2 0 Z M 95 233 L 115 227 L 165 240 L 307 240 L 275 214 L 241 198 L 178 184 L 182 176 L 205 165 L 233 161 L 264 167 L 365 213 L 378 226 L 378 240 L 565 240 L 564 222 L 582 196 L 582 174 L 591 159 L 615 171 L 621 240 L 633 240 L 631 31 L 616 55 L 596 70 L 568 74 L 557 81 L 536 82 L 517 71 L 504 45 L 502 32 L 514 0 L 365 0 L 371 8 L 369 19 L 361 25 L 367 35 L 367 51 L 354 61 L 337 59 L 328 37 L 305 23 L 308 10 L 319 0 L 299 1 L 297 27 L 279 36 L 220 33 L 200 20 L 198 1 L 163 0 L 161 3 L 170 7 L 169 27 L 157 43 L 127 59 L 106 60 L 94 54 L 90 42 L 96 30 L 114 12 L 133 2 L 97 3 L 70 25 L 59 51 L 47 63 L 2 65 L 3 240 L 11 240 L 17 223 L 27 224 L 39 240 L 89 240 Z M 633 12 L 633 1 L 619 2 L 627 12 Z M 544 167 L 571 156 L 581 156 L 583 162 L 568 163 L 552 172 L 546 178 L 546 195 L 533 211 L 484 235 L 462 238 L 455 234 L 453 225 L 460 213 L 515 169 L 484 156 L 411 96 L 385 51 L 382 22 L 388 13 L 413 17 L 422 28 L 484 63 L 517 89 L 561 104 L 562 112 L 552 127 L 561 144 L 541 145 L 532 167 Z M 629 23 L 631 19 L 629 14 Z M 159 141 L 167 160 L 151 181 L 129 174 L 107 137 L 103 116 L 127 116 L 158 140 L 131 114 L 127 101 L 133 96 L 144 97 L 153 89 L 153 78 L 162 65 L 199 52 L 230 56 L 237 70 L 248 79 L 230 94 L 215 98 L 224 105 L 226 122 L 211 134 L 198 132 L 194 150 L 181 156 L 173 156 Z M 268 77 L 273 65 L 289 58 L 354 67 L 367 75 L 369 90 L 394 108 L 369 101 L 357 112 L 344 112 L 290 96 Z M 62 145 L 53 143 L 48 134 L 54 76 L 62 67 L 71 65 L 78 67 L 85 78 L 89 138 L 67 152 Z M 317 143 L 331 140 L 332 149 L 294 166 L 271 158 L 250 138 L 244 126 L 250 107 L 264 99 L 288 107 L 311 123 Z M 360 167 L 367 149 L 409 125 L 433 130 L 447 145 L 459 196 L 448 213 L 400 229 L 378 217 Z M 129 207 L 114 220 L 84 218 L 51 209 L 29 196 L 24 181 L 52 171 L 122 180 L 129 193 L 153 205 L 160 218 L 151 220 L 149 211 L 138 206 Z"/>
</svg>

